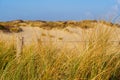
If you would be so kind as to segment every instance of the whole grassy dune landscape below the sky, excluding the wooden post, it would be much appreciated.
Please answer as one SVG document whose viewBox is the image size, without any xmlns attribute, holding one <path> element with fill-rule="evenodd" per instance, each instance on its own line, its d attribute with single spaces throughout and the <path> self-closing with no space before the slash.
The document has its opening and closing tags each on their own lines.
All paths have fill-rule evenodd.
<svg viewBox="0 0 120 80">
<path fill-rule="evenodd" d="M 118 24 L 91 20 L 0 25 L 0 80 L 120 80 Z M 32 32 L 25 32 L 26 27 L 38 27 L 40 32 L 34 35 L 39 40 L 25 42 L 17 56 L 16 41 L 10 37 L 21 34 L 25 41 L 34 40 Z"/>
</svg>

